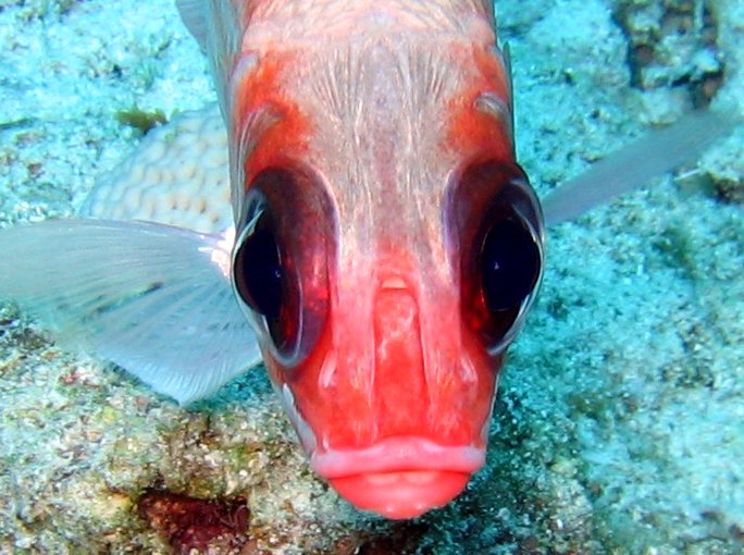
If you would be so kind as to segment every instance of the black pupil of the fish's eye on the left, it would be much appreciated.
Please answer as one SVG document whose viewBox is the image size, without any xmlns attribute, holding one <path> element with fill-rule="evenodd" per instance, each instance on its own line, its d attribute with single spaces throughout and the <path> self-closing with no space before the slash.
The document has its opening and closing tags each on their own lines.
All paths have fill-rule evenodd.
<svg viewBox="0 0 744 555">
<path fill-rule="evenodd" d="M 282 266 L 274 234 L 258 229 L 248 236 L 237 258 L 238 292 L 266 318 L 278 318 L 282 309 Z"/>
</svg>

